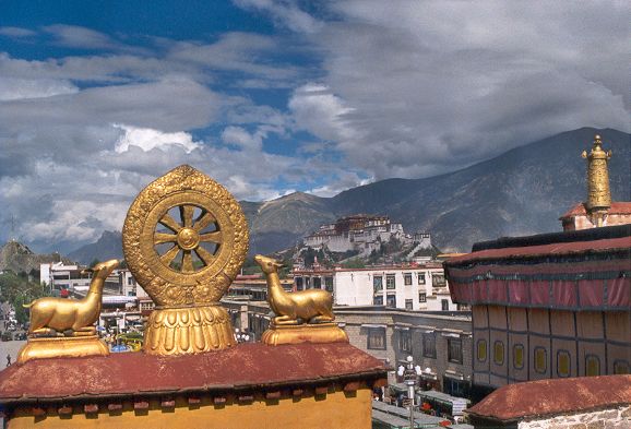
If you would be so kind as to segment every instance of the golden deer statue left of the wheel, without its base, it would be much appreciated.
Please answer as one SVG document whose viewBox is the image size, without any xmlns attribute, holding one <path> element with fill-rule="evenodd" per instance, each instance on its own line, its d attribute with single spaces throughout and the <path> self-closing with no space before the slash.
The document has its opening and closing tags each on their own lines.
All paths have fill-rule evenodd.
<svg viewBox="0 0 631 429">
<path fill-rule="evenodd" d="M 100 314 L 103 286 L 107 276 L 118 266 L 117 260 L 106 261 L 84 270 L 92 272 L 87 295 L 83 299 L 39 298 L 25 305 L 31 308 L 28 334 L 62 334 L 72 330 L 73 336 L 94 335 L 94 322 Z"/>
</svg>

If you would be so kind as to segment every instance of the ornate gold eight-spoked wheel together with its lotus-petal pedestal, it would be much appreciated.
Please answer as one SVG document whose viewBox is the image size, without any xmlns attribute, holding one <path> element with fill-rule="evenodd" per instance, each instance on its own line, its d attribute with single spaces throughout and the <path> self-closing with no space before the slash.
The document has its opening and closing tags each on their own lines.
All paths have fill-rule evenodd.
<svg viewBox="0 0 631 429">
<path fill-rule="evenodd" d="M 145 353 L 188 354 L 235 343 L 218 301 L 243 264 L 248 241 L 238 202 L 188 165 L 141 191 L 127 214 L 122 247 L 129 270 L 157 306 Z"/>
</svg>

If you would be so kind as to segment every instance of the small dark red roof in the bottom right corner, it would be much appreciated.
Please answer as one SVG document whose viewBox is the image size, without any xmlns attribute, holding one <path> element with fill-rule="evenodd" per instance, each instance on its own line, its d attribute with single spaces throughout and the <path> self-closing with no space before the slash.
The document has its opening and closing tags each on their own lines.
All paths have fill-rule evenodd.
<svg viewBox="0 0 631 429">
<path fill-rule="evenodd" d="M 508 384 L 467 409 L 502 422 L 631 403 L 631 376 L 579 377 Z"/>
</svg>

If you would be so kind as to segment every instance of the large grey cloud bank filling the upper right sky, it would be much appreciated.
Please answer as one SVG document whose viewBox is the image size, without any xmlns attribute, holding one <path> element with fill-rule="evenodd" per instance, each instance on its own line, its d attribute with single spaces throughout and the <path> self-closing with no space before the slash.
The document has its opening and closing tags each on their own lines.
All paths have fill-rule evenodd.
<svg viewBox="0 0 631 429">
<path fill-rule="evenodd" d="M 261 4 L 275 20 L 297 8 Z M 586 126 L 629 130 L 628 3 L 328 7 L 317 33 L 293 27 L 318 47 L 324 74 L 289 107 L 298 128 L 377 179 L 453 170 Z"/>
</svg>

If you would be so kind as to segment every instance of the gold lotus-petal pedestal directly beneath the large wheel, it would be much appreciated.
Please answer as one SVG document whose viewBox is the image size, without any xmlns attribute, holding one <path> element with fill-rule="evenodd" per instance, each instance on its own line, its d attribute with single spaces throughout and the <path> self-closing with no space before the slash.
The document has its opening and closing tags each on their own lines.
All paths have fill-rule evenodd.
<svg viewBox="0 0 631 429">
<path fill-rule="evenodd" d="M 188 355 L 236 344 L 228 312 L 219 306 L 154 310 L 144 333 L 148 355 Z"/>
</svg>

